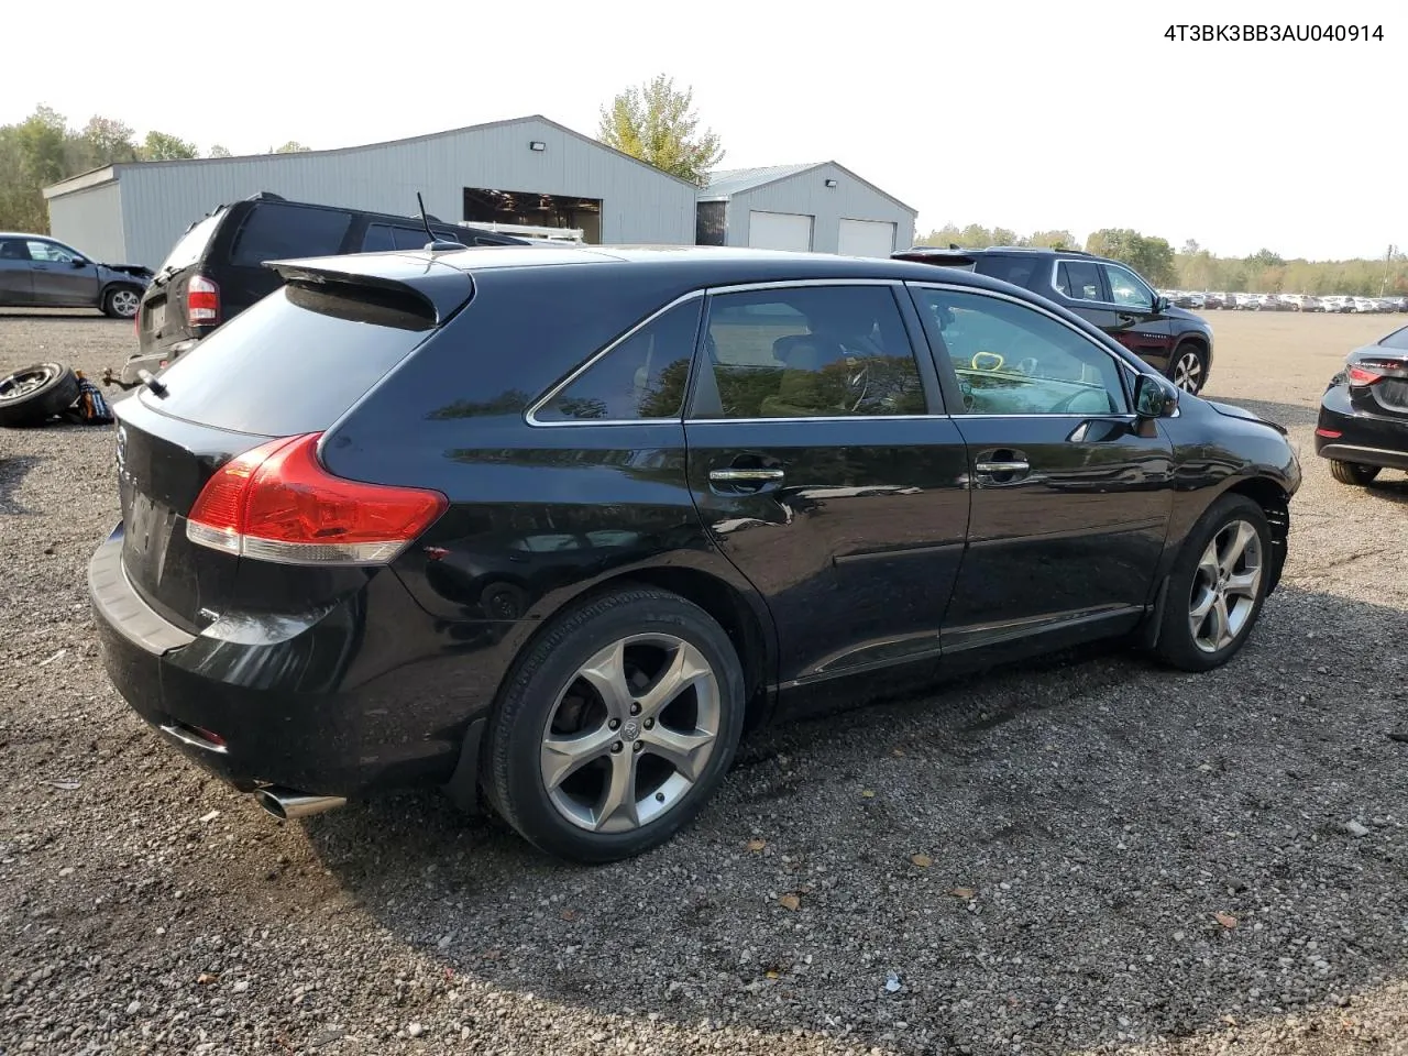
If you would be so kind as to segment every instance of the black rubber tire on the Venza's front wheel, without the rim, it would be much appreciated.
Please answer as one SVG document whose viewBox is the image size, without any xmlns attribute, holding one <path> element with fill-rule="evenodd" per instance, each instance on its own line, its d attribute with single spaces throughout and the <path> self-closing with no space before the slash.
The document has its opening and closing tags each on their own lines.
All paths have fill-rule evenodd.
<svg viewBox="0 0 1408 1056">
<path fill-rule="evenodd" d="M 1252 600 L 1250 612 L 1236 636 L 1217 650 L 1207 650 L 1194 639 L 1191 625 L 1193 594 L 1200 586 L 1198 565 L 1208 543 L 1233 522 L 1246 522 L 1256 531 L 1260 543 L 1262 574 L 1256 584 L 1256 597 Z M 1186 672 L 1205 672 L 1221 667 L 1231 660 L 1246 643 L 1252 628 L 1262 615 L 1266 589 L 1271 579 L 1271 527 L 1266 520 L 1266 511 L 1246 496 L 1228 494 L 1217 500 L 1198 518 L 1174 559 L 1153 655 L 1163 663 Z"/>
</svg>

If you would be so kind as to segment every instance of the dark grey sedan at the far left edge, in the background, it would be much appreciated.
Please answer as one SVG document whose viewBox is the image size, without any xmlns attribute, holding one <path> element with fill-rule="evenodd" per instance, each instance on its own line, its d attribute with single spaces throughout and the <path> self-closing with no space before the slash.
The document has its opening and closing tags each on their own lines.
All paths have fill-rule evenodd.
<svg viewBox="0 0 1408 1056">
<path fill-rule="evenodd" d="M 97 308 L 137 315 L 149 268 L 97 263 L 48 235 L 0 232 L 0 308 Z"/>
</svg>

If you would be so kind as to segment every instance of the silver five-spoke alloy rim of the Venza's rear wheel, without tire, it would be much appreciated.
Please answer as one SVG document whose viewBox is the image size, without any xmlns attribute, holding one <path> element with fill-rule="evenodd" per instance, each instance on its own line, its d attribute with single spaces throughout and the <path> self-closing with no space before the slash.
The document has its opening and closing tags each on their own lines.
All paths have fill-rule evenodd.
<svg viewBox="0 0 1408 1056">
<path fill-rule="evenodd" d="M 539 772 L 558 812 L 629 832 L 673 810 L 718 741 L 718 676 L 674 635 L 622 638 L 569 680 L 543 729 Z"/>
</svg>

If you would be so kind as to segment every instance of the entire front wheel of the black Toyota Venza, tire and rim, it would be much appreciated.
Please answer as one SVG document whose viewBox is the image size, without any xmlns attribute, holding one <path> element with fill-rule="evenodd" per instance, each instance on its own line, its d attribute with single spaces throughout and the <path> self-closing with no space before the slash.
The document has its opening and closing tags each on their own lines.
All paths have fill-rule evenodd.
<svg viewBox="0 0 1408 1056">
<path fill-rule="evenodd" d="M 1246 643 L 1271 580 L 1271 528 L 1245 496 L 1224 496 L 1174 560 L 1155 655 L 1186 672 L 1221 667 Z"/>
</svg>

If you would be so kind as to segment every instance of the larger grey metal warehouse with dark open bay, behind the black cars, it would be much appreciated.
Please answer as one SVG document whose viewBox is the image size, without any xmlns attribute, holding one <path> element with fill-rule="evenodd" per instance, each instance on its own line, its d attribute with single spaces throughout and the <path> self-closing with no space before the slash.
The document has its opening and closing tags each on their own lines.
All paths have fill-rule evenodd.
<svg viewBox="0 0 1408 1056">
<path fill-rule="evenodd" d="M 135 162 L 45 187 L 55 238 L 158 268 L 191 221 L 268 190 L 445 221 L 580 228 L 587 242 L 694 242 L 698 187 L 541 115 L 367 146 Z"/>
</svg>

